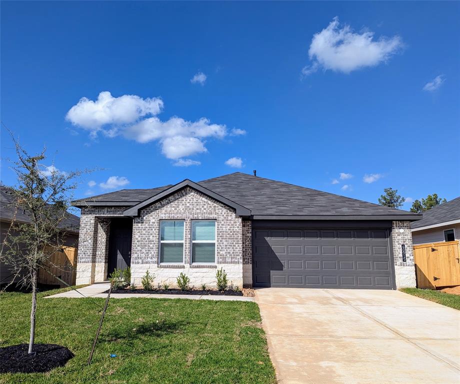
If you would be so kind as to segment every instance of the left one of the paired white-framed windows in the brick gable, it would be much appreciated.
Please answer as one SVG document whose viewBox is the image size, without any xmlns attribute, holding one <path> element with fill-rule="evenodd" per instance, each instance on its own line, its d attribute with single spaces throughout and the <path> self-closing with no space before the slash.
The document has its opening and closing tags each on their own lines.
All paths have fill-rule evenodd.
<svg viewBox="0 0 460 384">
<path fill-rule="evenodd" d="M 160 221 L 160 264 L 183 263 L 183 223 L 183 220 Z"/>
</svg>

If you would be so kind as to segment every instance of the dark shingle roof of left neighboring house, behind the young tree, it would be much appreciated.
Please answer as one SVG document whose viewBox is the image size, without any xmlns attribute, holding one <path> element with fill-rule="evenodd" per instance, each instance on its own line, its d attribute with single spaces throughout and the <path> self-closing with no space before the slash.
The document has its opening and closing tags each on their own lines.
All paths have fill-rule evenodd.
<svg viewBox="0 0 460 384">
<path fill-rule="evenodd" d="M 14 195 L 11 188 L 0 185 L 0 218 L 2 221 L 11 221 L 15 218 L 20 222 L 31 222 L 30 217 L 22 209 L 17 209 L 14 203 Z M 69 232 L 78 233 L 80 218 L 74 214 L 67 213 L 60 223 L 59 227 Z"/>
</svg>

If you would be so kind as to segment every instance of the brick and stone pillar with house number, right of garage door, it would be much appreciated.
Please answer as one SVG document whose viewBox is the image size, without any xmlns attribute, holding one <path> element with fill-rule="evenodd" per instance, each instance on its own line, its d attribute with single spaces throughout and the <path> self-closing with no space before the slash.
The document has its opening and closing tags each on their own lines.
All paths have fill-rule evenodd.
<svg viewBox="0 0 460 384">
<path fill-rule="evenodd" d="M 391 237 L 393 241 L 396 287 L 414 287 L 416 280 L 410 221 L 393 221 Z M 405 245 L 405 262 L 402 261 L 402 244 Z"/>
</svg>

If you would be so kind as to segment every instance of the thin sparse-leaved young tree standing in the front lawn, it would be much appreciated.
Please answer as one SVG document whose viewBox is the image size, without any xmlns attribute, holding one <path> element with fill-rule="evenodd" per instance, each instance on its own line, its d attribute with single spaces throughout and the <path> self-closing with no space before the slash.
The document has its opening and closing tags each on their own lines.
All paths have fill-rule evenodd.
<svg viewBox="0 0 460 384">
<path fill-rule="evenodd" d="M 11 132 L 10 132 L 11 133 Z M 54 166 L 44 168 L 46 149 L 31 156 L 13 139 L 17 159 L 11 161 L 17 184 L 10 188 L 15 212 L 26 214 L 24 223 L 13 218 L 1 244 L 0 260 L 9 264 L 14 281 L 31 287 L 30 337 L 28 353 L 33 353 L 37 273 L 46 265 L 53 251 L 62 248 L 64 219 L 70 208 L 70 192 L 75 189 L 76 177 L 87 170 L 60 172 Z"/>
</svg>

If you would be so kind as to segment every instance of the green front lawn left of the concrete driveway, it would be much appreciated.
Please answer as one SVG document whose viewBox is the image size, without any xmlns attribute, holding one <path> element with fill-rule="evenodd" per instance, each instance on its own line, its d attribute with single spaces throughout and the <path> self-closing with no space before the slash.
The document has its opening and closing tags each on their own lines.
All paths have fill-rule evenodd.
<svg viewBox="0 0 460 384">
<path fill-rule="evenodd" d="M 48 373 L 2 374 L 0 383 L 275 382 L 254 302 L 113 298 L 86 366 L 104 299 L 44 298 L 63 290 L 38 294 L 35 341 L 75 357 Z M 29 315 L 29 293 L 1 293 L 0 346 L 27 342 Z"/>
</svg>

